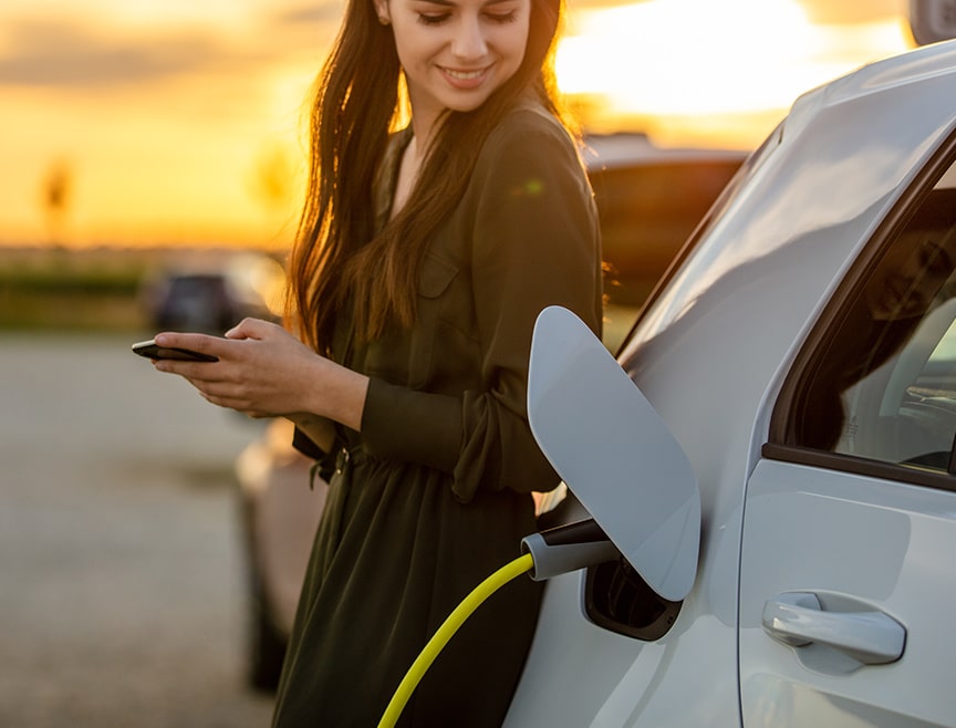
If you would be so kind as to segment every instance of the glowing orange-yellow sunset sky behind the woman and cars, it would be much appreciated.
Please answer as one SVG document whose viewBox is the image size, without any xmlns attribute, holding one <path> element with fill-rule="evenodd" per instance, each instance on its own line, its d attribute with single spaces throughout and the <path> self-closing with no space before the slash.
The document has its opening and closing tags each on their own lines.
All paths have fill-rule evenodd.
<svg viewBox="0 0 956 728">
<path fill-rule="evenodd" d="M 799 93 L 912 48 L 906 8 L 568 0 L 559 83 L 589 129 L 749 149 Z M 0 3 L 0 246 L 288 246 L 302 102 L 341 9 Z"/>
</svg>

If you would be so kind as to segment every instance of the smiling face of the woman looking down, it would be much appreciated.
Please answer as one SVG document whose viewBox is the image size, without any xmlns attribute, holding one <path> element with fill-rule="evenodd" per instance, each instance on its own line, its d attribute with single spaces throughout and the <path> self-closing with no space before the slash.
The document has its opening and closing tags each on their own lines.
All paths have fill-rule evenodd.
<svg viewBox="0 0 956 728">
<path fill-rule="evenodd" d="M 375 7 L 394 29 L 417 133 L 446 110 L 478 108 L 524 58 L 531 0 L 375 0 Z"/>
</svg>

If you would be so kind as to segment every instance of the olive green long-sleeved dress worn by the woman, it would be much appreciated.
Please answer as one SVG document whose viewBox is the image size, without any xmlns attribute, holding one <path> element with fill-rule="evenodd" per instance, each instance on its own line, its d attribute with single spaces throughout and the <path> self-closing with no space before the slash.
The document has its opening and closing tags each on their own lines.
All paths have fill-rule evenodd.
<svg viewBox="0 0 956 728">
<path fill-rule="evenodd" d="M 385 207 L 405 137 L 385 164 Z M 344 322 L 336 332 L 336 357 L 371 383 L 361 435 L 342 431 L 325 458 L 330 490 L 277 727 L 376 726 L 448 614 L 537 531 L 531 491 L 558 483 L 526 416 L 531 333 L 550 304 L 600 331 L 600 235 L 576 147 L 542 108 L 516 108 L 492 131 L 428 250 L 418 293 L 411 330 L 363 346 L 346 344 Z M 524 575 L 492 594 L 398 725 L 500 725 L 540 594 Z"/>
</svg>

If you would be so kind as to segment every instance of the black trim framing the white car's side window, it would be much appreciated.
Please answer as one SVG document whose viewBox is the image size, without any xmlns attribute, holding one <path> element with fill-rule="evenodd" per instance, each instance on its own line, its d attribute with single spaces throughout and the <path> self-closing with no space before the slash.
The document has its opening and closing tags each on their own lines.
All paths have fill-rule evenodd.
<svg viewBox="0 0 956 728">
<path fill-rule="evenodd" d="M 956 477 L 938 470 L 802 447 L 793 441 L 793 428 L 791 427 L 797 397 L 803 391 L 804 382 L 811 373 L 810 365 L 815 358 L 817 352 L 828 343 L 833 334 L 839 315 L 863 284 L 866 275 L 876 264 L 880 254 L 908 221 L 911 211 L 928 197 L 941 177 L 954 166 L 956 166 L 956 129 L 950 128 L 949 136 L 937 147 L 935 157 L 919 171 L 908 188 L 900 195 L 893 209 L 870 237 L 863 251 L 853 262 L 846 275 L 843 277 L 800 347 L 773 405 L 768 441 L 761 448 L 762 457 L 769 460 L 781 460 L 794 465 L 956 491 Z"/>
</svg>

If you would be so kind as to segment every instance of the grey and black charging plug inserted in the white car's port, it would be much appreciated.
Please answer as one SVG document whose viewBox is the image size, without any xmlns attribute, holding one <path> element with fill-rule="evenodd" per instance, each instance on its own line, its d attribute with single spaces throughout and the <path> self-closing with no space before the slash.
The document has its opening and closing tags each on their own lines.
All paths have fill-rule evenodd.
<svg viewBox="0 0 956 728">
<path fill-rule="evenodd" d="M 529 575 L 534 581 L 613 561 L 620 554 L 593 518 L 526 535 L 521 553 L 531 554 L 534 565 Z"/>
</svg>

